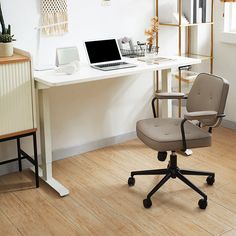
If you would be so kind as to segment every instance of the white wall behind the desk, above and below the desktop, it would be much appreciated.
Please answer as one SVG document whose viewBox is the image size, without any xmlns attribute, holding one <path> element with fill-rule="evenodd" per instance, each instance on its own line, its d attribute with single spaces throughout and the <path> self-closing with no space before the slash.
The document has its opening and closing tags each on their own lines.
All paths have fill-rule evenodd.
<svg viewBox="0 0 236 236">
<path fill-rule="evenodd" d="M 154 2 L 112 0 L 102 7 L 97 0 L 68 0 L 69 33 L 41 38 L 39 59 L 55 61 L 55 48 L 76 45 L 85 60 L 82 41 L 130 36 L 144 41 L 144 29 L 154 15 Z M 6 23 L 12 25 L 16 47 L 36 54 L 38 0 L 2 0 Z M 51 89 L 53 149 L 67 149 L 135 131 L 136 121 L 151 117 L 152 73 Z M 25 142 L 27 150 L 31 145 Z M 0 145 L 0 159 L 13 157 L 14 142 Z M 0 170 L 1 172 L 1 170 Z"/>
</svg>

